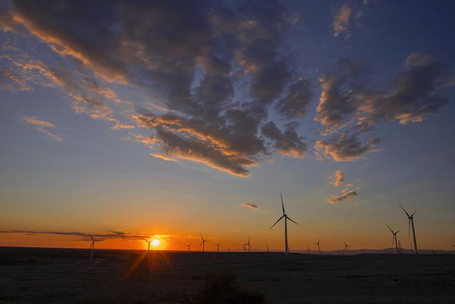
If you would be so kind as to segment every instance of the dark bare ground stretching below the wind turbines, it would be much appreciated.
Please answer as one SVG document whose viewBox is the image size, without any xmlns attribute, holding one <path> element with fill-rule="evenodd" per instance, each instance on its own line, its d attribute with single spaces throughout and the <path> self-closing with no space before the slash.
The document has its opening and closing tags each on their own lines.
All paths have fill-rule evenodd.
<svg viewBox="0 0 455 304">
<path fill-rule="evenodd" d="M 209 273 L 229 271 L 264 303 L 455 303 L 455 256 L 316 256 L 0 248 L 0 303 L 193 303 Z M 145 253 L 144 253 L 145 254 Z"/>
</svg>

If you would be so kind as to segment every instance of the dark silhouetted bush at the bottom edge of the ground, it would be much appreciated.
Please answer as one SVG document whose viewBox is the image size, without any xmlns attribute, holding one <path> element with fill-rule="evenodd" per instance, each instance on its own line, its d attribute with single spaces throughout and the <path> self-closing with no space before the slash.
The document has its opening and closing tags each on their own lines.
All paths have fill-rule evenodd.
<svg viewBox="0 0 455 304">
<path fill-rule="evenodd" d="M 264 295 L 240 290 L 235 275 L 225 271 L 210 274 L 205 278 L 195 297 L 195 304 L 259 304 L 264 302 Z"/>
</svg>

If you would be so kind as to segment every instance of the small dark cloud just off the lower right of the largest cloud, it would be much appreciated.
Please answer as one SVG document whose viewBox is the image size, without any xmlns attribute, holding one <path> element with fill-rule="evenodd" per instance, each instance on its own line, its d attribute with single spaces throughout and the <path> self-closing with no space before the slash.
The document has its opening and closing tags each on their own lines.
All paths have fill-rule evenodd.
<svg viewBox="0 0 455 304">
<path fill-rule="evenodd" d="M 296 122 L 284 125 L 284 132 L 278 129 L 274 122 L 267 122 L 261 127 L 261 134 L 269 138 L 274 150 L 287 157 L 304 158 L 306 145 L 304 137 L 299 137 L 295 130 Z"/>
</svg>

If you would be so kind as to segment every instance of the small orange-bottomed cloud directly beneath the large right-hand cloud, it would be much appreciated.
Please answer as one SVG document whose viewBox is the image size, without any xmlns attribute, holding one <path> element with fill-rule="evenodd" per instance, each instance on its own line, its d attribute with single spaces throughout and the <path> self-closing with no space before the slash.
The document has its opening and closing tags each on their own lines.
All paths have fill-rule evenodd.
<svg viewBox="0 0 455 304">
<path fill-rule="evenodd" d="M 352 162 L 362 159 L 363 154 L 378 151 L 376 145 L 380 140 L 376 137 L 369 137 L 366 143 L 358 140 L 356 135 L 348 135 L 343 132 L 328 140 L 316 140 L 316 156 L 319 159 L 333 159 L 336 162 Z"/>
</svg>

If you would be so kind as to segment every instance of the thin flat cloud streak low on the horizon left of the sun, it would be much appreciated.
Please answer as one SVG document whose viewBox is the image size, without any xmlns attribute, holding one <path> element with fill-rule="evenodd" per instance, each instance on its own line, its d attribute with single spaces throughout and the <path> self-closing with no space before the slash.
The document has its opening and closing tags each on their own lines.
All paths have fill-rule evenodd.
<svg viewBox="0 0 455 304">
<path fill-rule="evenodd" d="M 91 241 L 90 235 L 85 232 L 65 232 L 65 231 L 28 231 L 28 230 L 0 230 L 0 234 L 51 234 L 57 236 L 78 236 L 80 241 Z M 149 237 L 146 234 L 129 234 L 124 231 L 112 230 L 104 234 L 92 234 L 96 239 L 124 239 L 124 240 L 138 240 Z"/>
</svg>

